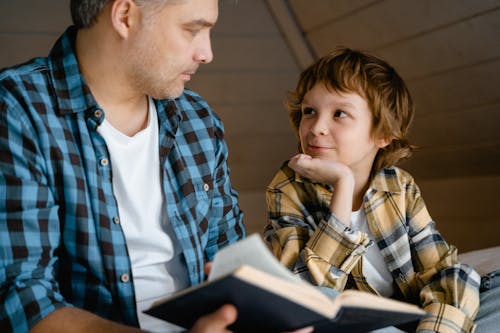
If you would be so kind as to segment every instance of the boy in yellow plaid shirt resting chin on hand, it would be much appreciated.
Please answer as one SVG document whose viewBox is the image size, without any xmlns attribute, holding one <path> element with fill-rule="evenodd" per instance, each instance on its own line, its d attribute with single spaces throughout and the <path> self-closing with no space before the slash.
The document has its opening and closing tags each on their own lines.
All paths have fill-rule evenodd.
<svg viewBox="0 0 500 333">
<path fill-rule="evenodd" d="M 472 332 L 479 276 L 436 230 L 412 176 L 414 107 L 384 61 L 339 48 L 307 68 L 287 101 L 300 153 L 267 189 L 265 236 L 312 283 L 421 305 L 417 331 Z"/>
</svg>

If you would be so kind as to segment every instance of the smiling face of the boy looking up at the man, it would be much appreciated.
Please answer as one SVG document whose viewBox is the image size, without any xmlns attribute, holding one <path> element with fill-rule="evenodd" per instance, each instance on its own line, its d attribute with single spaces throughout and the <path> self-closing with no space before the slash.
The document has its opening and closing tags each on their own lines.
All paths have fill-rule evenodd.
<svg viewBox="0 0 500 333">
<path fill-rule="evenodd" d="M 343 163 L 355 173 L 370 172 L 378 149 L 384 146 L 383 140 L 375 140 L 372 124 L 373 115 L 363 97 L 330 91 L 318 83 L 302 101 L 302 151 Z"/>
</svg>

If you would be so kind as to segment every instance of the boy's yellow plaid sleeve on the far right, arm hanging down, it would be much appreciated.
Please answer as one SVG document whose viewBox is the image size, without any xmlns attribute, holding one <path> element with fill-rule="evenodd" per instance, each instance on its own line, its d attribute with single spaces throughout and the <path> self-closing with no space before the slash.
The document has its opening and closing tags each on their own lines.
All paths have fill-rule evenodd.
<svg viewBox="0 0 500 333">
<path fill-rule="evenodd" d="M 479 275 L 457 259 L 435 228 L 418 186 L 407 185 L 407 218 L 410 243 L 422 307 L 431 316 L 417 331 L 473 332 L 479 307 Z"/>
</svg>

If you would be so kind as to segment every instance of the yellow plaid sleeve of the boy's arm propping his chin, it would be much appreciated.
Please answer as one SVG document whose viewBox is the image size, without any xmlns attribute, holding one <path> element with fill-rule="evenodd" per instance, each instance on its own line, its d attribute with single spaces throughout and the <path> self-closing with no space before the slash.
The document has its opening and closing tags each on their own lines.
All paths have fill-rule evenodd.
<svg viewBox="0 0 500 333">
<path fill-rule="evenodd" d="M 321 198 L 282 170 L 269 185 L 266 201 L 264 234 L 274 255 L 314 284 L 343 290 L 349 273 L 371 244 L 368 235 L 351 230 L 331 213 L 326 219 L 315 218 L 322 214 L 308 207 L 320 207 Z"/>
</svg>

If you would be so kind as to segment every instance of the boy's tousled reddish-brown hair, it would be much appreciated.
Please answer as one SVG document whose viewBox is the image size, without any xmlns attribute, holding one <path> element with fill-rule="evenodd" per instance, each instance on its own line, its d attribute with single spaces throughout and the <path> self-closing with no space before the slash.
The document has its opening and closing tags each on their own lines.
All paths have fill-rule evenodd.
<svg viewBox="0 0 500 333">
<path fill-rule="evenodd" d="M 403 79 L 385 61 L 366 52 L 340 47 L 305 69 L 297 87 L 288 94 L 289 119 L 298 135 L 304 95 L 316 84 L 363 97 L 373 114 L 373 135 L 390 139 L 378 151 L 372 175 L 407 158 L 414 150 L 408 129 L 414 114 L 413 101 Z"/>
</svg>

